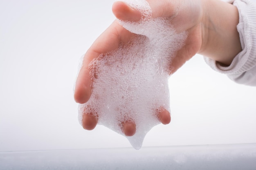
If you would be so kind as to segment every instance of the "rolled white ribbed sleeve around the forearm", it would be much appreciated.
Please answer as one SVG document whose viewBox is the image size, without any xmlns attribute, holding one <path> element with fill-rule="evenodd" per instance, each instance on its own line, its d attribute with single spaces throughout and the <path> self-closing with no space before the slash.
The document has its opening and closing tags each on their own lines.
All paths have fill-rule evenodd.
<svg viewBox="0 0 256 170">
<path fill-rule="evenodd" d="M 256 3 L 252 0 L 229 0 L 229 2 L 238 8 L 237 30 L 243 50 L 227 67 L 207 57 L 204 57 L 204 60 L 211 68 L 226 74 L 234 82 L 256 86 Z"/>
</svg>

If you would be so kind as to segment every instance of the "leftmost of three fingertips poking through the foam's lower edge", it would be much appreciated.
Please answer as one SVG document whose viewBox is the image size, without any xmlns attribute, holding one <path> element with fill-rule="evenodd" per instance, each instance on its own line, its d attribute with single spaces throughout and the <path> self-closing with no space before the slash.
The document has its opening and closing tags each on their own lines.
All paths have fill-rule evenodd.
<svg viewBox="0 0 256 170">
<path fill-rule="evenodd" d="M 98 118 L 92 113 L 84 113 L 82 126 L 85 130 L 93 130 L 98 123 Z"/>
</svg>

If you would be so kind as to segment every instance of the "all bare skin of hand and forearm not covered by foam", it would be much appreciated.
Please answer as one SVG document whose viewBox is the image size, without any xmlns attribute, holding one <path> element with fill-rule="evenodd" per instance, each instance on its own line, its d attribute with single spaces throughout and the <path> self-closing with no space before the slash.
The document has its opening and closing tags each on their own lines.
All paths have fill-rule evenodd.
<svg viewBox="0 0 256 170">
<path fill-rule="evenodd" d="M 242 51 L 239 33 L 236 29 L 239 22 L 238 10 L 232 4 L 220 0 L 147 1 L 152 9 L 153 18 L 175 16 L 170 24 L 178 33 L 182 31 L 188 33 L 185 45 L 177 51 L 172 61 L 170 73 L 175 73 L 196 53 L 216 60 L 223 66 L 229 66 L 234 57 Z M 121 20 L 138 21 L 141 18 L 139 11 L 121 1 L 113 4 L 112 11 L 116 18 Z M 100 54 L 117 49 L 120 42 L 128 43 L 134 35 L 115 20 L 95 40 L 85 53 L 83 66 L 76 80 L 74 99 L 77 103 L 87 102 L 91 95 L 88 64 Z M 97 125 L 97 117 L 92 115 L 92 113 L 83 113 L 82 125 L 86 130 L 92 130 Z M 157 115 L 162 124 L 170 123 L 170 113 L 164 108 L 159 108 Z M 132 120 L 122 122 L 120 128 L 126 136 L 132 136 L 136 132 L 136 125 Z"/>
</svg>

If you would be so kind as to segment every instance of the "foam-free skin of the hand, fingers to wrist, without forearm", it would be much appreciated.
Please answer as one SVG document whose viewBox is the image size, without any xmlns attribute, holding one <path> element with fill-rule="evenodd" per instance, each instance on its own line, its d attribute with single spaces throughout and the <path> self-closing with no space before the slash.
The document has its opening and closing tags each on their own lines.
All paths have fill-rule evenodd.
<svg viewBox="0 0 256 170">
<path fill-rule="evenodd" d="M 179 2 L 179 1 L 177 1 Z M 170 24 L 175 26 L 178 32 L 188 31 L 188 38 L 186 45 L 177 52 L 177 56 L 173 59 L 171 68 L 172 73 L 175 72 L 182 64 L 189 60 L 195 53 L 200 49 L 201 45 L 201 27 L 200 27 L 200 5 L 193 7 L 184 7 L 183 3 L 180 2 L 180 7 L 175 9 L 174 3 L 153 1 L 148 0 L 150 7 L 153 12 L 153 18 L 157 17 L 173 17 L 178 15 L 171 20 Z M 166 8 L 170 7 L 170 9 Z M 172 9 L 173 8 L 173 9 Z M 187 10 L 190 9 L 189 13 Z M 199 9 L 199 10 L 198 10 Z M 141 14 L 132 9 L 124 2 L 116 2 L 113 5 L 113 13 L 118 19 L 137 21 L 140 20 Z M 193 12 L 193 15 L 191 13 Z M 197 19 L 196 19 L 197 18 Z M 90 70 L 88 69 L 89 63 L 101 53 L 108 53 L 118 48 L 119 43 L 126 44 L 130 41 L 130 38 L 134 36 L 134 33 L 130 33 L 119 25 L 118 21 L 115 20 L 109 27 L 104 31 L 99 38 L 92 44 L 90 49 L 84 56 L 83 66 L 76 81 L 76 88 L 74 93 L 74 99 L 78 103 L 85 103 L 88 101 L 91 95 L 91 78 L 89 75 Z M 109 43 L 111 42 L 111 43 Z M 159 109 L 158 119 L 162 124 L 168 124 L 171 121 L 170 113 L 165 109 Z M 92 116 L 90 113 L 84 113 L 82 119 L 83 128 L 92 130 L 97 125 L 97 117 Z M 120 127 L 126 136 L 132 136 L 135 134 L 136 125 L 132 122 L 123 122 Z"/>
</svg>

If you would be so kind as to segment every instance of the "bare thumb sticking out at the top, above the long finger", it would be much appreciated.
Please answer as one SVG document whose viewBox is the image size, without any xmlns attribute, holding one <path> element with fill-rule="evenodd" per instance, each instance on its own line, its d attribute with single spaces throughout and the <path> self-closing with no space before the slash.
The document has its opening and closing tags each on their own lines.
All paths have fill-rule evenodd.
<svg viewBox="0 0 256 170">
<path fill-rule="evenodd" d="M 139 21 L 141 19 L 141 13 L 125 2 L 115 2 L 112 6 L 112 11 L 119 20 Z"/>
</svg>

